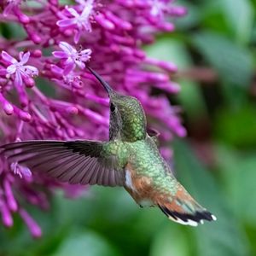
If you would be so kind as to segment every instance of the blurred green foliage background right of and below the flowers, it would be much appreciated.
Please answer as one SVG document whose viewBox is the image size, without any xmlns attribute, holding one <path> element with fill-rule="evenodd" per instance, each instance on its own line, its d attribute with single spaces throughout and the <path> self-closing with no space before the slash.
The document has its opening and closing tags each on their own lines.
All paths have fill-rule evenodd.
<svg viewBox="0 0 256 256">
<path fill-rule="evenodd" d="M 170 145 L 173 168 L 218 221 L 174 224 L 124 189 L 94 187 L 76 200 L 57 193 L 49 212 L 31 207 L 39 240 L 20 218 L 10 230 L 0 225 L 0 255 L 256 255 L 256 1 L 178 3 L 189 15 L 146 50 L 179 67 L 172 79 L 182 90 L 170 100 L 189 135 Z"/>
</svg>

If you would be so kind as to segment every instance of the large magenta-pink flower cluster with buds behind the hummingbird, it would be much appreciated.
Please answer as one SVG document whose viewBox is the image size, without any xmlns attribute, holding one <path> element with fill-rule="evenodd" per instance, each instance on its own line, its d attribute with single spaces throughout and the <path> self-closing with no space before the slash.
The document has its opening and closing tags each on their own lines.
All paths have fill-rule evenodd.
<svg viewBox="0 0 256 256">
<path fill-rule="evenodd" d="M 108 98 L 84 68 L 86 61 L 115 90 L 136 96 L 163 141 L 186 131 L 167 94 L 177 67 L 149 58 L 142 47 L 160 32 L 172 32 L 175 17 L 185 15 L 172 0 L 58 0 L 0 2 L 0 22 L 20 25 L 25 38 L 0 38 L 1 143 L 27 139 L 108 139 Z M 154 89 L 160 91 L 156 96 Z M 150 121 L 149 121 L 150 125 Z M 170 158 L 171 152 L 163 148 Z M 0 156 L 0 212 L 13 225 L 19 212 L 32 236 L 41 230 L 24 199 L 46 209 L 49 191 L 67 189 Z M 73 187 L 73 195 L 77 191 Z"/>
</svg>

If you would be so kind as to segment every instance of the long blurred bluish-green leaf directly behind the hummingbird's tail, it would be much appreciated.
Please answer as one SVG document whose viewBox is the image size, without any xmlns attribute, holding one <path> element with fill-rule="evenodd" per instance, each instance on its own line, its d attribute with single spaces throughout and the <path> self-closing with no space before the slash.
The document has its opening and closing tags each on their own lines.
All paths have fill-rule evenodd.
<svg viewBox="0 0 256 256">
<path fill-rule="evenodd" d="M 247 255 L 247 239 L 230 211 L 230 202 L 212 175 L 196 160 L 192 150 L 185 143 L 175 143 L 175 163 L 180 181 L 204 207 L 217 216 L 217 221 L 204 224 L 195 231 L 198 244 L 196 255 L 240 256 Z"/>
</svg>

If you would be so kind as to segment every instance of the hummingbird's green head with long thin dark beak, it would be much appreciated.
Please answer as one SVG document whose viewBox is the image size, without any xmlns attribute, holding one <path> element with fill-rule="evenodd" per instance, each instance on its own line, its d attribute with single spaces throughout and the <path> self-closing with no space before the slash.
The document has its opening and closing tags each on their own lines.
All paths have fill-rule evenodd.
<svg viewBox="0 0 256 256">
<path fill-rule="evenodd" d="M 146 117 L 137 98 L 120 95 L 98 73 L 88 66 L 87 68 L 108 92 L 110 100 L 110 139 L 118 138 L 127 142 L 144 139 L 146 137 Z"/>
</svg>

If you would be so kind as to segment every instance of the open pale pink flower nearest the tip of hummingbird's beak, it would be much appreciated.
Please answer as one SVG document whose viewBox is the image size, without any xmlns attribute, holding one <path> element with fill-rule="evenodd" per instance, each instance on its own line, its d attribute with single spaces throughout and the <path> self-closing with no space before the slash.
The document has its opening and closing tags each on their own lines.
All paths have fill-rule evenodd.
<svg viewBox="0 0 256 256">
<path fill-rule="evenodd" d="M 77 51 L 72 45 L 67 44 L 66 42 L 61 42 L 59 46 L 63 51 L 54 51 L 53 55 L 56 58 L 65 60 L 64 75 L 70 73 L 76 66 L 80 69 L 84 69 L 84 62 L 90 60 L 90 49 Z"/>
</svg>

